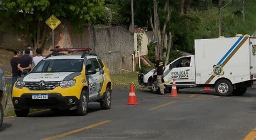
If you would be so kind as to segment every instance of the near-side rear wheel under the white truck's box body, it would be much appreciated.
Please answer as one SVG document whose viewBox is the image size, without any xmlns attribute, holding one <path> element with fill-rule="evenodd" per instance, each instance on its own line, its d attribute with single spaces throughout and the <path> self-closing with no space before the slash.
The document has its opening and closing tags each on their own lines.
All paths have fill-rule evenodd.
<svg viewBox="0 0 256 140">
<path fill-rule="evenodd" d="M 215 84 L 215 91 L 220 96 L 229 96 L 233 92 L 233 85 L 226 79 L 221 79 Z"/>
</svg>

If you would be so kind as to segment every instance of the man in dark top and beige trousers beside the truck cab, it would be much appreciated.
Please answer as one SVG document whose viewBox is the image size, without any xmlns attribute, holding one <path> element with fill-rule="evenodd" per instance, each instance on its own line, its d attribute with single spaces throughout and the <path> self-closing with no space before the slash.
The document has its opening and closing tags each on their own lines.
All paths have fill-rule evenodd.
<svg viewBox="0 0 256 140">
<path fill-rule="evenodd" d="M 157 72 L 157 84 L 159 85 L 160 94 L 162 95 L 164 95 L 165 86 L 160 84 L 162 83 L 162 76 L 164 74 L 164 70 L 165 70 L 164 62 L 161 61 L 159 57 L 156 57 L 156 69 L 154 69 L 154 73 Z M 152 77 L 154 76 L 154 73 Z"/>
</svg>

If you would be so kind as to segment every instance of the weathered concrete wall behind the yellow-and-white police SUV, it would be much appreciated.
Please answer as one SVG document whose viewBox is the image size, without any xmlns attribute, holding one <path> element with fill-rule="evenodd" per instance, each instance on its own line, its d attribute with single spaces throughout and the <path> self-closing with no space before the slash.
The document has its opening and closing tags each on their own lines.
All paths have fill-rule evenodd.
<svg viewBox="0 0 256 140">
<path fill-rule="evenodd" d="M 50 54 L 52 48 L 52 31 L 48 29 L 46 34 L 44 55 Z M 0 47 L 5 49 L 24 49 L 29 43 L 28 39 L 17 37 L 18 35 L 3 36 L 4 38 L 0 38 Z M 133 34 L 123 27 L 86 27 L 82 34 L 77 34 L 68 21 L 62 21 L 54 30 L 54 46 L 57 45 L 61 48 L 90 47 L 102 57 L 111 73 L 124 72 L 114 67 L 132 70 Z"/>
</svg>

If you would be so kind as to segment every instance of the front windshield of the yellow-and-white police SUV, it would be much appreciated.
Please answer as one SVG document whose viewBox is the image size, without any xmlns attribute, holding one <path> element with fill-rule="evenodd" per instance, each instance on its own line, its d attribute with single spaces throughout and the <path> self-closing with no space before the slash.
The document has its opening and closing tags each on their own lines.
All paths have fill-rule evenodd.
<svg viewBox="0 0 256 140">
<path fill-rule="evenodd" d="M 31 72 L 80 72 L 83 60 L 43 60 Z"/>
</svg>

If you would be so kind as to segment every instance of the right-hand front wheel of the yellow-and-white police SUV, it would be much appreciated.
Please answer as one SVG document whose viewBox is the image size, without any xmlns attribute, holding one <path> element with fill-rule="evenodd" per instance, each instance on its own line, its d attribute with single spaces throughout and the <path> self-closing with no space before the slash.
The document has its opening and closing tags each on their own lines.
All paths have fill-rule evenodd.
<svg viewBox="0 0 256 140">
<path fill-rule="evenodd" d="M 88 108 L 88 98 L 85 91 L 82 91 L 81 97 L 79 100 L 79 105 L 77 108 L 77 115 L 84 116 L 87 114 L 87 108 Z"/>
</svg>

